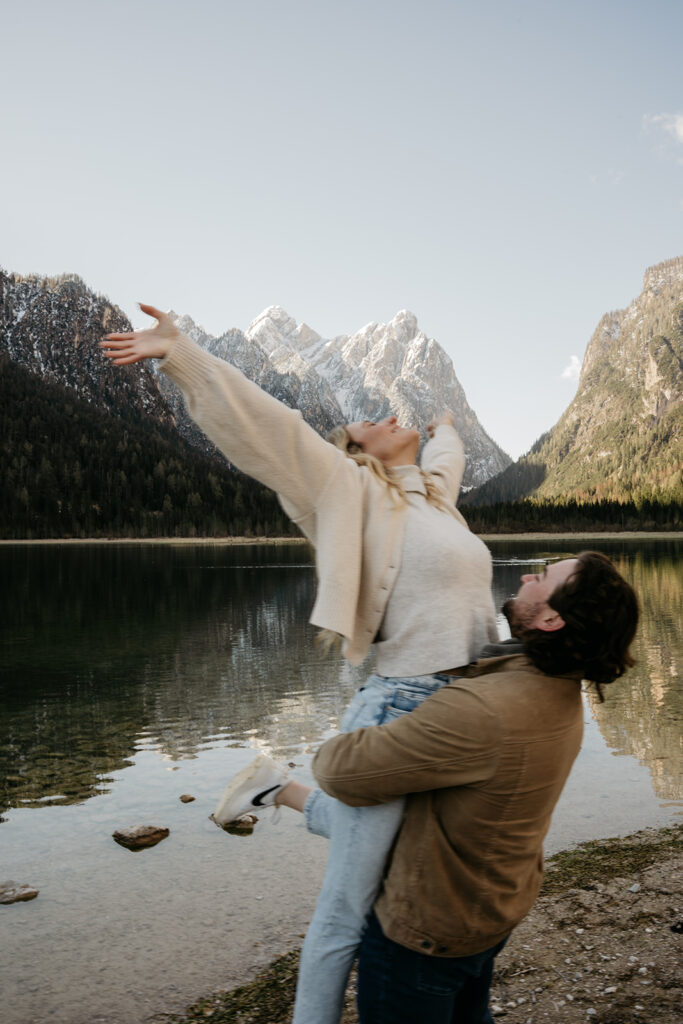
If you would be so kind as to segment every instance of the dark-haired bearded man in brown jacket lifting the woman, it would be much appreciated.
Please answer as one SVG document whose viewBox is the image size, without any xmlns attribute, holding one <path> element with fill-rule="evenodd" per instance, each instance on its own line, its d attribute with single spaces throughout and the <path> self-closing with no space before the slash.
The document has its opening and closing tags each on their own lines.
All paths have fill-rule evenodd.
<svg viewBox="0 0 683 1024">
<path fill-rule="evenodd" d="M 582 679 L 633 665 L 638 604 L 596 552 L 524 575 L 513 641 L 398 721 L 329 740 L 313 769 L 352 806 L 410 794 L 358 962 L 361 1024 L 492 1024 L 494 958 L 541 887 L 579 753 Z"/>
</svg>

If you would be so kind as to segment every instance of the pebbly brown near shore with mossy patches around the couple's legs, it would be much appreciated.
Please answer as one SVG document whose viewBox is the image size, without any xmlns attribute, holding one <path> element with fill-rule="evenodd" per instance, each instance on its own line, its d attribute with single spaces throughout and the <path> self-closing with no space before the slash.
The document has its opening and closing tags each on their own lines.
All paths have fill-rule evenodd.
<svg viewBox="0 0 683 1024">
<path fill-rule="evenodd" d="M 494 1017 L 504 1024 L 584 1024 L 587 1015 L 614 1024 L 673 1021 L 681 994 L 681 840 L 683 825 L 648 828 L 550 857 L 536 903 L 497 961 Z M 288 952 L 238 988 L 154 1019 L 288 1024 L 298 959 L 298 950 Z M 354 1002 L 352 976 L 340 1024 L 357 1024 Z"/>
</svg>

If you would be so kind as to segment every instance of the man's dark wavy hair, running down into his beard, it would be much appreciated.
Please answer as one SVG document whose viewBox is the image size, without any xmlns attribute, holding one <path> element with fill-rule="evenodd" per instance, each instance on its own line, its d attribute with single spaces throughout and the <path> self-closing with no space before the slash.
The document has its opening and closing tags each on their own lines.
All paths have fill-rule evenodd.
<svg viewBox="0 0 683 1024">
<path fill-rule="evenodd" d="M 582 551 L 579 569 L 548 603 L 564 620 L 554 632 L 521 629 L 524 652 L 549 676 L 581 673 L 601 686 L 613 683 L 635 665 L 629 647 L 638 626 L 638 598 L 605 555 Z"/>
</svg>

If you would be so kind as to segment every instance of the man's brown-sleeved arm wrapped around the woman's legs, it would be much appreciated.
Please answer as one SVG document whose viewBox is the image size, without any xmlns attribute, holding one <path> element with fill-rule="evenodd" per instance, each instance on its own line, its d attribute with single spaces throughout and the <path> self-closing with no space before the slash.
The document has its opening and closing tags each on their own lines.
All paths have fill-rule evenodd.
<svg viewBox="0 0 683 1024">
<path fill-rule="evenodd" d="M 323 790 L 345 804 L 468 785 L 496 769 L 501 728 L 475 687 L 451 683 L 387 725 L 342 733 L 315 755 Z"/>
</svg>

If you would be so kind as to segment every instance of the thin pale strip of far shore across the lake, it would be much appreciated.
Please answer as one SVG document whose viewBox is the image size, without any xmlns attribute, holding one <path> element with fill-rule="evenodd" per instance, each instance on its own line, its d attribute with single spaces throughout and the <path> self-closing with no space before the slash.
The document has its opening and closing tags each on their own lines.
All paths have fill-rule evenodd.
<svg viewBox="0 0 683 1024">
<path fill-rule="evenodd" d="M 529 532 L 529 534 L 477 534 L 482 541 L 561 541 L 563 538 L 573 538 L 580 541 L 680 541 L 683 530 L 604 530 L 566 531 L 566 532 Z M 304 537 L 51 537 L 51 538 L 17 538 L 13 540 L 0 539 L 0 547 L 9 545 L 215 545 L 217 547 L 238 547 L 246 545 L 267 545 L 270 547 L 285 544 L 309 544 Z"/>
</svg>

